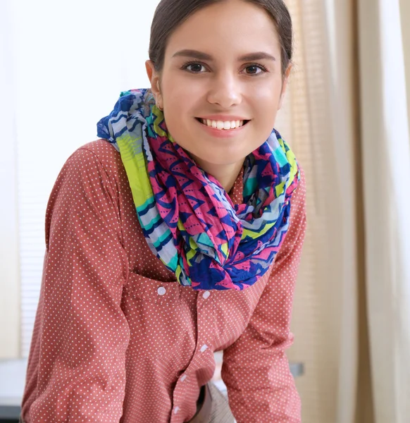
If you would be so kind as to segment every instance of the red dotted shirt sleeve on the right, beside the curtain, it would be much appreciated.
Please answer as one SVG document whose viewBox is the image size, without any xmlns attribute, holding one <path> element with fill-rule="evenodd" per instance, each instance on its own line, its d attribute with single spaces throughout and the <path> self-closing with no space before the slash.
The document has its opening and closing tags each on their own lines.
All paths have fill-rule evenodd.
<svg viewBox="0 0 410 423">
<path fill-rule="evenodd" d="M 285 349 L 306 231 L 305 181 L 292 197 L 290 228 L 247 329 L 223 354 L 222 379 L 237 423 L 299 423 L 301 405 Z"/>
</svg>

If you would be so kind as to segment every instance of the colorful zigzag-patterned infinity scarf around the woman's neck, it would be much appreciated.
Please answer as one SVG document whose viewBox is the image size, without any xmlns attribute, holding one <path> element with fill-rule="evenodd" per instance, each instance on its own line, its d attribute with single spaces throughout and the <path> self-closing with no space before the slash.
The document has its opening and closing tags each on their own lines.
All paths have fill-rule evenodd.
<svg viewBox="0 0 410 423">
<path fill-rule="evenodd" d="M 168 134 L 150 90 L 122 92 L 97 133 L 120 152 L 145 239 L 182 286 L 244 290 L 268 271 L 300 178 L 277 131 L 244 160 L 239 205 Z"/>
</svg>

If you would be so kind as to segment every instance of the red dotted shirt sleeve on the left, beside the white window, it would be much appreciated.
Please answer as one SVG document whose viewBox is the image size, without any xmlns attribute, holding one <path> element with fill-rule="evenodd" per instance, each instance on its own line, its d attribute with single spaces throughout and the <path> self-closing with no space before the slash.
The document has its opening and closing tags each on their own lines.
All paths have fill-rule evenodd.
<svg viewBox="0 0 410 423">
<path fill-rule="evenodd" d="M 51 192 L 25 423 L 114 423 L 123 414 L 130 329 L 120 307 L 128 258 L 117 199 L 115 181 L 84 148 Z"/>
</svg>

